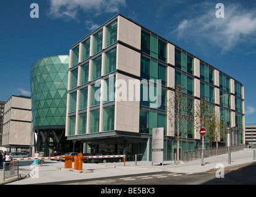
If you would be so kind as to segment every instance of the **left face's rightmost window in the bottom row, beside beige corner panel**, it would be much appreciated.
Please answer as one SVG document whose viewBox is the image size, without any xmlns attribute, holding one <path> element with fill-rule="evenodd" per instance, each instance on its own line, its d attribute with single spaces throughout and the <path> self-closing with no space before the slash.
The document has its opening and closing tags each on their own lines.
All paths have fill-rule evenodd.
<svg viewBox="0 0 256 197">
<path fill-rule="evenodd" d="M 114 131 L 114 105 L 103 108 L 103 131 Z"/>
</svg>

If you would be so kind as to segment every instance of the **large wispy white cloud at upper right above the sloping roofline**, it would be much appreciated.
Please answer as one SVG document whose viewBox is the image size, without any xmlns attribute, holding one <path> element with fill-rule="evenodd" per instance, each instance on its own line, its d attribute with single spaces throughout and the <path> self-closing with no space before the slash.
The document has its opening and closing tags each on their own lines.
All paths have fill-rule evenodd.
<svg viewBox="0 0 256 197">
<path fill-rule="evenodd" d="M 181 14 L 183 19 L 173 33 L 179 39 L 193 39 L 198 44 L 208 42 L 221 48 L 221 54 L 233 50 L 237 44 L 252 41 L 256 35 L 256 12 L 239 4 L 224 4 L 224 18 L 216 18 L 215 4 L 195 4 Z M 254 38 L 254 40 L 252 39 Z"/>
</svg>

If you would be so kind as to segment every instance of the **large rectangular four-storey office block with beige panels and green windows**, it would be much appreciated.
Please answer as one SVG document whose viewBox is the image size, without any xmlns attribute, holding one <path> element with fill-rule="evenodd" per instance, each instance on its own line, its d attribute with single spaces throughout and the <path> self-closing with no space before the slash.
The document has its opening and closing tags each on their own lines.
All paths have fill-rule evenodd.
<svg viewBox="0 0 256 197">
<path fill-rule="evenodd" d="M 152 128 L 164 127 L 164 160 L 173 159 L 177 142 L 166 101 L 178 82 L 194 105 L 203 95 L 244 143 L 242 84 L 123 15 L 72 46 L 68 81 L 66 136 L 85 143 L 85 152 L 113 151 L 127 159 L 140 154 L 149 161 Z M 181 153 L 200 142 L 188 125 Z"/>
</svg>

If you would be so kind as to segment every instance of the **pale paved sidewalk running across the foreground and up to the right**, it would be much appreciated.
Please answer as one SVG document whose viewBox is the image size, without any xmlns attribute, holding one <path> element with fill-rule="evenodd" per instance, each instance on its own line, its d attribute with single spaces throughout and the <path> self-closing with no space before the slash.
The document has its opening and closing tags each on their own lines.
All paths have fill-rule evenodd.
<svg viewBox="0 0 256 197">
<path fill-rule="evenodd" d="M 231 164 L 228 164 L 228 154 L 204 158 L 204 165 L 201 166 L 201 159 L 186 163 L 174 164 L 174 161 L 164 161 L 163 166 L 151 164 L 151 161 L 138 161 L 135 166 L 134 161 L 124 163 L 105 163 L 105 164 L 83 164 L 83 171 L 64 169 L 63 162 L 45 161 L 43 166 L 31 166 L 20 164 L 21 177 L 12 177 L 2 182 L 2 170 L 0 171 L 0 184 L 26 185 L 35 183 L 51 183 L 70 180 L 96 179 L 103 177 L 114 177 L 119 175 L 143 174 L 149 172 L 176 172 L 176 173 L 200 173 L 213 169 L 219 169 L 217 164 L 224 167 L 232 167 L 242 164 L 255 163 L 253 158 L 254 151 L 245 148 L 242 151 L 231 153 Z M 21 163 L 21 162 L 20 162 Z M 74 167 L 74 163 L 73 163 Z"/>
</svg>

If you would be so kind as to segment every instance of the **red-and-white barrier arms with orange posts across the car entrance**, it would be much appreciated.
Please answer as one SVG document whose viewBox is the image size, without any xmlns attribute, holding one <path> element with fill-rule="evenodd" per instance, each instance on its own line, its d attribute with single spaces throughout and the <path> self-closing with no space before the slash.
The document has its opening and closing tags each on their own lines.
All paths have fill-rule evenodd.
<svg viewBox="0 0 256 197">
<path fill-rule="evenodd" d="M 124 166 L 126 166 L 126 155 L 102 155 L 102 156 L 83 156 L 82 153 L 79 153 L 77 156 L 74 156 L 74 169 L 82 171 L 83 169 L 83 159 L 92 159 L 92 158 L 124 158 Z M 33 161 L 35 159 L 65 159 L 64 168 L 72 168 L 72 159 L 70 155 L 65 156 L 51 156 L 51 157 L 42 157 L 42 158 L 13 158 L 15 161 Z"/>
</svg>

